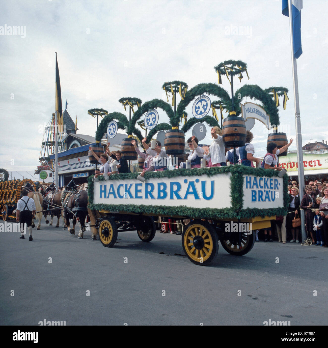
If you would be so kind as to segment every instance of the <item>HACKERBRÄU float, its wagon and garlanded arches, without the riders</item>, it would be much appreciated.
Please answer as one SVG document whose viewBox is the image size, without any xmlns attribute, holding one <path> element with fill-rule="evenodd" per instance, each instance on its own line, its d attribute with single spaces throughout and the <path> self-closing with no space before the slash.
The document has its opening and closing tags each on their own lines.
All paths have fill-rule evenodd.
<svg viewBox="0 0 328 348">
<path fill-rule="evenodd" d="M 218 74 L 219 84 L 222 83 L 221 75 L 227 76 L 232 87 L 231 97 L 225 89 L 212 83 L 200 84 L 188 91 L 187 84 L 182 81 L 165 82 L 162 88 L 167 101 L 172 96 L 171 105 L 154 99 L 142 106 L 138 105 L 132 118 L 130 109 L 130 120 L 118 112 L 106 114 L 97 128 L 96 143 L 100 143 L 106 129 L 110 129 L 112 135 L 120 128 L 127 130 L 128 134 L 124 146 L 131 145 L 127 143 L 129 139 L 131 142 L 133 134 L 142 138 L 136 128 L 136 124 L 142 124 L 150 130 L 146 142 L 157 132 L 166 130 L 166 153 L 181 156 L 179 137 L 183 138 L 184 143 L 184 134 L 199 120 L 210 127 L 220 126 L 215 111 L 220 108 L 225 145 L 237 148 L 245 144 L 245 118 L 240 117 L 240 114 L 243 116 L 245 106 L 241 101 L 246 96 L 261 101 L 261 105 L 254 104 L 263 110 L 256 112 L 256 119 L 268 124 L 270 117 L 272 124 L 279 124 L 276 102 L 279 95 L 288 92 L 286 89 L 280 89 L 279 94 L 274 87 L 263 90 L 256 85 L 244 85 L 234 94 L 233 76 L 238 74 L 241 81 L 242 73 L 245 72 L 248 77 L 246 64 L 241 61 L 226 61 L 214 69 Z M 178 106 L 177 93 L 181 97 Z M 211 103 L 208 95 L 219 99 Z M 185 109 L 195 98 L 194 117 L 188 119 Z M 120 102 L 130 105 L 131 101 L 130 98 L 122 98 Z M 170 124 L 157 124 L 157 108 L 167 114 Z M 208 116 L 210 108 L 213 117 Z M 224 109 L 229 115 L 222 123 Z M 244 109 L 244 112 L 249 109 L 251 108 Z M 138 121 L 143 115 L 145 120 Z M 261 118 L 268 119 L 264 121 Z M 182 126 L 180 130 L 179 126 Z M 271 220 L 276 215 L 286 213 L 288 177 L 280 177 L 278 174 L 279 172 L 272 169 L 234 165 L 147 172 L 144 182 L 137 179 L 136 173 L 114 174 L 106 177 L 106 180 L 103 176 L 96 180 L 89 177 L 88 212 L 93 237 L 98 233 L 104 246 L 113 247 L 118 231 L 136 230 L 143 242 L 150 242 L 156 233 L 154 221 L 159 216 L 167 216 L 190 219 L 183 231 L 182 247 L 193 263 L 209 264 L 218 253 L 218 241 L 228 253 L 244 255 L 254 245 L 254 230 L 270 227 Z"/>
</svg>

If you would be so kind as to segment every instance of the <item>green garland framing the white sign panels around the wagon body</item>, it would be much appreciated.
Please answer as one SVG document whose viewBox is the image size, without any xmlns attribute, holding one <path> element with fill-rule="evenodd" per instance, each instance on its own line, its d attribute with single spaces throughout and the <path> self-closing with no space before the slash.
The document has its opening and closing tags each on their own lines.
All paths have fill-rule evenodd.
<svg viewBox="0 0 328 348">
<path fill-rule="evenodd" d="M 201 176 L 206 174 L 211 177 L 218 173 L 231 173 L 230 178 L 230 190 L 231 190 L 231 208 L 213 209 L 213 208 L 190 208 L 186 206 L 178 207 L 166 207 L 157 205 L 133 205 L 133 204 L 93 204 L 93 181 L 92 177 L 88 178 L 88 197 L 89 208 L 93 210 L 108 210 L 108 211 L 124 211 L 129 213 L 150 213 L 154 215 L 168 215 L 168 216 L 185 216 L 187 218 L 203 218 L 203 219 L 243 219 L 254 216 L 272 216 L 272 215 L 285 215 L 287 213 L 287 207 L 289 205 L 289 197 L 287 192 L 288 176 L 285 174 L 283 177 L 283 203 L 284 208 L 265 208 L 265 209 L 243 209 L 243 175 L 256 175 L 266 177 L 278 176 L 277 171 L 273 169 L 264 168 L 251 168 L 242 165 L 224 166 L 224 167 L 211 167 L 211 168 L 197 168 L 197 169 L 176 169 L 174 171 L 163 172 L 147 172 L 145 179 L 160 178 L 160 177 L 178 177 L 178 176 Z M 138 173 L 126 173 L 111 175 L 110 180 L 126 180 L 136 179 Z M 99 176 L 99 180 L 103 181 L 104 178 Z"/>
</svg>

